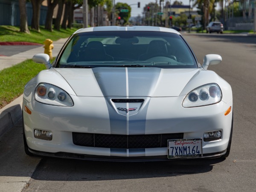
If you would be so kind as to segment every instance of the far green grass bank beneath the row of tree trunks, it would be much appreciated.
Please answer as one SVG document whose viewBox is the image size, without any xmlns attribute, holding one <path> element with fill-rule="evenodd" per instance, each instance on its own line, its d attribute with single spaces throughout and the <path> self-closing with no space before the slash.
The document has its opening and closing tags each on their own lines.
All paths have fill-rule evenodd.
<svg viewBox="0 0 256 192">
<path fill-rule="evenodd" d="M 40 32 L 30 30 L 30 34 L 20 32 L 17 26 L 0 26 L 0 42 L 24 41 L 38 44 L 44 44 L 45 39 L 56 41 L 60 38 L 67 38 L 79 28 L 53 30 L 52 32 L 40 28 Z"/>
</svg>

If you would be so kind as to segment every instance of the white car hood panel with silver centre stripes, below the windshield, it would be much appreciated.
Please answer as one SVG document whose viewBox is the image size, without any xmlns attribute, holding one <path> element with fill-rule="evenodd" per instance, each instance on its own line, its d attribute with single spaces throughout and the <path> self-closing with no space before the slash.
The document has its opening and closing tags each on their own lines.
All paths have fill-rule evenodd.
<svg viewBox="0 0 256 192">
<path fill-rule="evenodd" d="M 77 96 L 179 96 L 197 69 L 157 67 L 55 68 Z"/>
</svg>

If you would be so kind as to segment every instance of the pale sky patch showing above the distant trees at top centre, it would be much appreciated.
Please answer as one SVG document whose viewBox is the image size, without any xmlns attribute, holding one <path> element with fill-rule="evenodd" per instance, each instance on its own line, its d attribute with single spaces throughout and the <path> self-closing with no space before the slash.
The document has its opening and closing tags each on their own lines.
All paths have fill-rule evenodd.
<svg viewBox="0 0 256 192">
<path fill-rule="evenodd" d="M 165 2 L 166 1 L 167 0 L 165 0 Z M 175 0 L 171 0 L 171 4 L 174 1 Z M 178 0 L 178 1 L 181 1 L 183 5 L 189 5 L 189 0 Z M 156 0 L 115 0 L 115 3 L 118 3 L 118 2 L 127 3 L 128 5 L 135 4 L 135 5 L 131 5 L 131 17 L 137 17 L 138 15 L 142 15 L 143 7 L 145 7 L 146 4 L 150 2 L 156 3 Z M 138 2 L 140 2 L 140 8 L 138 8 L 137 6 Z M 159 3 L 159 0 L 157 0 L 157 3 Z M 191 0 L 191 6 L 192 6 L 192 0 Z"/>
</svg>

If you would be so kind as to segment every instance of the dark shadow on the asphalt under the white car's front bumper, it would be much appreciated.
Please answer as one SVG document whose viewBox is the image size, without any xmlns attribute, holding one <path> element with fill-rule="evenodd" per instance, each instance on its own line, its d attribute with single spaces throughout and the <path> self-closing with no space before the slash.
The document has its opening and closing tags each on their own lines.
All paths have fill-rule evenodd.
<svg viewBox="0 0 256 192">
<path fill-rule="evenodd" d="M 55 181 L 94 181 L 174 177 L 210 172 L 213 166 L 221 161 L 223 159 L 123 163 L 43 158 L 32 178 Z"/>
</svg>

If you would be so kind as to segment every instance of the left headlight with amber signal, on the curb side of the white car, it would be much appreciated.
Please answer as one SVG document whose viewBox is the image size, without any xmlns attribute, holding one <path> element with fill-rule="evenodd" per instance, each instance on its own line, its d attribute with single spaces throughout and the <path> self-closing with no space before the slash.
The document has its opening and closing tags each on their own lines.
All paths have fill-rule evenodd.
<svg viewBox="0 0 256 192">
<path fill-rule="evenodd" d="M 48 83 L 40 83 L 35 88 L 35 100 L 48 105 L 72 107 L 71 97 L 61 88 Z"/>
</svg>

